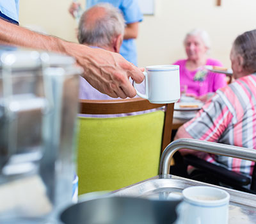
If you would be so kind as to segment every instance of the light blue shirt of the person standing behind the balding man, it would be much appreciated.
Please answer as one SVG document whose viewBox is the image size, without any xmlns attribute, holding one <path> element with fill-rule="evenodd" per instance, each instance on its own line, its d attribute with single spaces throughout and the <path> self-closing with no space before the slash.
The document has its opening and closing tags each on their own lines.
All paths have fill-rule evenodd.
<svg viewBox="0 0 256 224">
<path fill-rule="evenodd" d="M 111 3 L 116 8 L 119 8 L 124 15 L 126 24 L 141 22 L 143 19 L 138 0 L 87 0 L 86 8 L 90 8 L 98 3 Z M 122 54 L 127 61 L 137 65 L 137 49 L 135 40 L 124 40 L 120 48 L 120 54 Z"/>
</svg>

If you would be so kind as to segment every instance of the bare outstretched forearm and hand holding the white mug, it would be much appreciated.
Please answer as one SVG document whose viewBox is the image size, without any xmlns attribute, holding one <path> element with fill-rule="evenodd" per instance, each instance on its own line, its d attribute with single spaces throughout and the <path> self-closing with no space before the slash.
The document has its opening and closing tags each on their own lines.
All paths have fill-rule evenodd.
<svg viewBox="0 0 256 224">
<path fill-rule="evenodd" d="M 0 44 L 42 49 L 73 56 L 84 68 L 84 78 L 94 88 L 111 97 L 134 97 L 136 91 L 129 82 L 129 77 L 136 83 L 141 83 L 144 78 L 141 72 L 143 68 L 135 67 L 120 54 L 35 33 L 3 19 L 0 19 Z"/>
</svg>

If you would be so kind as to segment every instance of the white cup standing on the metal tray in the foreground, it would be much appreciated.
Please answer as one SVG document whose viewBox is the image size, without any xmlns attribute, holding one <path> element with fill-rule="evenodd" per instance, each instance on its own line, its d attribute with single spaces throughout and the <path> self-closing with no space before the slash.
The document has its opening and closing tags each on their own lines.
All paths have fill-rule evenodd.
<svg viewBox="0 0 256 224">
<path fill-rule="evenodd" d="M 208 186 L 195 186 L 182 191 L 184 202 L 179 209 L 179 222 L 186 224 L 227 224 L 230 195 Z"/>
</svg>

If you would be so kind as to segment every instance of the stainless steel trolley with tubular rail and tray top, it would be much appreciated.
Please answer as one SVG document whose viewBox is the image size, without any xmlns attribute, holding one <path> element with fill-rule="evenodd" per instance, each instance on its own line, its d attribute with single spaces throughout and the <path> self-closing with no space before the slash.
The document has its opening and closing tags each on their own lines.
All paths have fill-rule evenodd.
<svg viewBox="0 0 256 224">
<path fill-rule="evenodd" d="M 173 141 L 165 148 L 161 157 L 159 176 L 143 180 L 126 188 L 118 189 L 113 191 L 111 195 L 172 199 L 182 196 L 182 190 L 191 186 L 212 186 L 224 189 L 230 194 L 228 223 L 256 223 L 256 195 L 170 175 L 170 161 L 172 156 L 181 148 L 256 161 L 256 150 L 254 149 L 212 143 L 209 141 L 180 139 Z"/>
</svg>

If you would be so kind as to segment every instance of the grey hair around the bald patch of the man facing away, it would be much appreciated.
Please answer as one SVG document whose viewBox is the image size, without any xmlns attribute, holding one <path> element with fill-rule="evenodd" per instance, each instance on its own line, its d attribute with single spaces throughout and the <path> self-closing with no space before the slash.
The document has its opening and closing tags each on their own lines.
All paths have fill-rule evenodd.
<svg viewBox="0 0 256 224">
<path fill-rule="evenodd" d="M 101 7 L 106 10 L 102 17 L 93 24 L 88 23 L 87 13 L 93 8 Z M 81 16 L 78 30 L 80 44 L 109 46 L 117 35 L 124 35 L 125 20 L 118 8 L 109 3 L 95 4 Z"/>
</svg>

